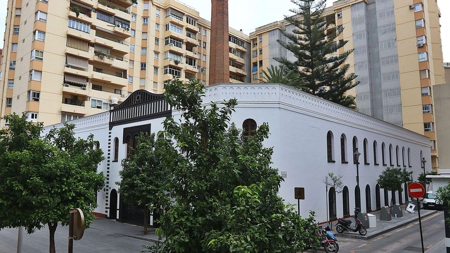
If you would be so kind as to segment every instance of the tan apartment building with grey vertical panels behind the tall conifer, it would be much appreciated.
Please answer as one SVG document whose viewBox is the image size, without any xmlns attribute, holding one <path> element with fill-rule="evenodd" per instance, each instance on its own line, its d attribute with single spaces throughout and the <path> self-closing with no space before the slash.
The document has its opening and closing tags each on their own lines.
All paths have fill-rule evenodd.
<svg viewBox="0 0 450 253">
<path fill-rule="evenodd" d="M 427 166 L 436 170 L 432 86 L 444 83 L 436 0 L 340 0 L 324 16 L 328 29 L 343 29 L 336 43 L 348 41 L 337 53 L 354 49 L 347 63 L 360 83 L 349 95 L 356 96 L 358 110 L 428 136 L 432 162 Z M 252 82 L 259 82 L 267 66 L 279 65 L 274 57 L 295 59 L 277 42 L 286 41 L 281 31 L 292 29 L 283 20 L 250 34 Z"/>
</svg>

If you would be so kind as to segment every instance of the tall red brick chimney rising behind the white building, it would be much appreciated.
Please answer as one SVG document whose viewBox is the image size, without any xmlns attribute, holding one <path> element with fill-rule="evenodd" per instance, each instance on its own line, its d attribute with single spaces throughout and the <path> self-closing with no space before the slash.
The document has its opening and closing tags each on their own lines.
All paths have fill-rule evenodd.
<svg viewBox="0 0 450 253">
<path fill-rule="evenodd" d="M 228 0 L 211 0 L 209 84 L 229 83 Z"/>
</svg>

